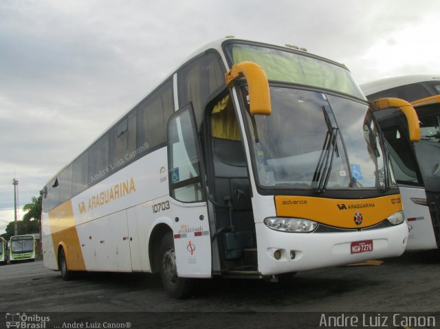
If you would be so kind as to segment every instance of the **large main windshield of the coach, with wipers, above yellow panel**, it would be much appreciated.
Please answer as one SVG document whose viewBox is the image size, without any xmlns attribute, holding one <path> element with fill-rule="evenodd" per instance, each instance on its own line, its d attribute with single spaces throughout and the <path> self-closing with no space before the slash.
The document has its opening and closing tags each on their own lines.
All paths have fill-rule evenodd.
<svg viewBox="0 0 440 329">
<path fill-rule="evenodd" d="M 384 170 L 377 126 L 366 104 L 287 87 L 271 86 L 270 94 L 270 116 L 246 111 L 261 187 L 322 192 L 386 186 L 390 170 Z M 388 179 L 395 185 L 391 172 Z"/>
</svg>

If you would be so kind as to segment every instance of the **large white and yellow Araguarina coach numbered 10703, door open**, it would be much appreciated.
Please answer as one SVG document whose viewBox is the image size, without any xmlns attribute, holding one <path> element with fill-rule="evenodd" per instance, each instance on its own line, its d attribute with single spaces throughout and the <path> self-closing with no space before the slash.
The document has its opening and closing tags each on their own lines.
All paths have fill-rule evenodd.
<svg viewBox="0 0 440 329">
<path fill-rule="evenodd" d="M 161 273 L 184 297 L 194 278 L 399 256 L 408 227 L 371 112 L 343 65 L 212 43 L 50 179 L 44 264 Z"/>
</svg>

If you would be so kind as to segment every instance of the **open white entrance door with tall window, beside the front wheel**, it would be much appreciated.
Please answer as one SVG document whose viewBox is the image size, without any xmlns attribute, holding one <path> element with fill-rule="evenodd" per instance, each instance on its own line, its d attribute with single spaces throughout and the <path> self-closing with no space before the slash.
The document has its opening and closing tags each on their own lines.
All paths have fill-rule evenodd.
<svg viewBox="0 0 440 329">
<path fill-rule="evenodd" d="M 192 105 L 168 121 L 170 210 L 179 277 L 211 276 L 211 241 Z"/>
</svg>

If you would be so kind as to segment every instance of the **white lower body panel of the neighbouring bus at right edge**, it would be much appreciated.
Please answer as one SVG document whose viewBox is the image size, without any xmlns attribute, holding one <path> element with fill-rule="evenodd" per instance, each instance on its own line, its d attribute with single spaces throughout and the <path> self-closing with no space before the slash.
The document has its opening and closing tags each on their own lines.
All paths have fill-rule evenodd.
<svg viewBox="0 0 440 329">
<path fill-rule="evenodd" d="M 428 205 L 418 205 L 411 200 L 411 198 L 423 198 L 426 200 L 425 189 L 406 186 L 399 186 L 399 189 L 406 223 L 410 230 L 406 249 L 437 249 Z"/>
</svg>

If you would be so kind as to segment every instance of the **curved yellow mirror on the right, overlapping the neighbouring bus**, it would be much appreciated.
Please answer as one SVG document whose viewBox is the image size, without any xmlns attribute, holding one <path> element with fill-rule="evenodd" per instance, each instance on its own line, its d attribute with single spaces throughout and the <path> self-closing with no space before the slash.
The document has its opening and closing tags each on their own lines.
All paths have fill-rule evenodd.
<svg viewBox="0 0 440 329">
<path fill-rule="evenodd" d="M 374 111 L 380 111 L 394 107 L 399 109 L 406 116 L 408 120 L 408 132 L 410 134 L 410 141 L 420 140 L 420 125 L 419 117 L 415 109 L 406 100 L 400 100 L 399 98 L 380 98 L 379 100 L 374 100 L 370 103 Z"/>
</svg>

